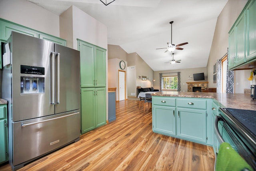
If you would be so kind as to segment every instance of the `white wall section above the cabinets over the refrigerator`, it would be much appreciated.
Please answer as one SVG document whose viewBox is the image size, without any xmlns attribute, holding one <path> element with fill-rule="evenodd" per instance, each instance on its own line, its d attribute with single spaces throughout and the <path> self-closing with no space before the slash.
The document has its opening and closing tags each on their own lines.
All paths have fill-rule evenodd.
<svg viewBox="0 0 256 171">
<path fill-rule="evenodd" d="M 60 36 L 59 16 L 27 0 L 0 0 L 0 18 Z"/>
</svg>

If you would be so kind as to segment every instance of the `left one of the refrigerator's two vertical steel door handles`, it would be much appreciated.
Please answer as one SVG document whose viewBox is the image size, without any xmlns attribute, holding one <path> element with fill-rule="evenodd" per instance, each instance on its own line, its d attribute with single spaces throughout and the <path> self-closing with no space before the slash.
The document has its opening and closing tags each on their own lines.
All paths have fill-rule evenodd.
<svg viewBox="0 0 256 171">
<path fill-rule="evenodd" d="M 55 53 L 51 52 L 50 54 L 50 72 L 51 72 L 51 104 L 55 104 Z"/>
</svg>

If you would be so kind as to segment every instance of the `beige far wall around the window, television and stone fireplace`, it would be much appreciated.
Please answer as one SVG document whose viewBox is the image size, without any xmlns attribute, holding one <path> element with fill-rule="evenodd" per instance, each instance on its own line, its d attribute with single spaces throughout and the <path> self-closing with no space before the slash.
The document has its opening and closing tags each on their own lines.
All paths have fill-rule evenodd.
<svg viewBox="0 0 256 171">
<path fill-rule="evenodd" d="M 172 73 L 174 72 L 174 73 Z M 183 69 L 183 70 L 166 70 L 166 71 L 156 71 L 154 72 L 154 89 L 160 89 L 160 73 L 168 73 L 163 74 L 163 76 L 177 76 L 177 72 L 180 72 L 180 91 L 181 92 L 187 92 L 188 90 L 188 84 L 186 82 L 204 82 L 204 81 L 194 81 L 193 79 L 189 79 L 189 77 L 193 77 L 193 74 L 196 73 L 204 73 L 204 77 L 207 76 L 207 69 L 206 67 L 202 68 L 189 68 L 189 69 Z M 208 81 L 207 78 L 205 81 Z"/>
</svg>

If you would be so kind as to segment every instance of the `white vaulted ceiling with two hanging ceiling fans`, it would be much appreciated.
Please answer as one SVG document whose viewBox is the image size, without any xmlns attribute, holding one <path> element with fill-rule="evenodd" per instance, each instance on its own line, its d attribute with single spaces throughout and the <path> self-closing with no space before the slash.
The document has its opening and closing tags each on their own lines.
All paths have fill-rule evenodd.
<svg viewBox="0 0 256 171">
<path fill-rule="evenodd" d="M 108 44 L 136 52 L 154 71 L 206 67 L 217 18 L 228 0 L 29 0 L 60 15 L 71 5 L 108 28 Z M 166 52 L 167 42 L 188 42 Z M 228 33 L 226 33 L 228 36 Z M 228 45 L 226 45 L 228 46 Z M 172 60 L 181 63 L 166 63 Z"/>
</svg>

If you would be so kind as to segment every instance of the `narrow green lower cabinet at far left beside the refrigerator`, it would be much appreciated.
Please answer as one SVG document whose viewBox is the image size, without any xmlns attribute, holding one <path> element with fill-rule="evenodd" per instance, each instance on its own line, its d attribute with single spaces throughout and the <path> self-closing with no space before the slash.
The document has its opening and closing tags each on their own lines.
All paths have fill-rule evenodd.
<svg viewBox="0 0 256 171">
<path fill-rule="evenodd" d="M 0 164 L 8 161 L 7 105 L 0 105 Z"/>
</svg>

